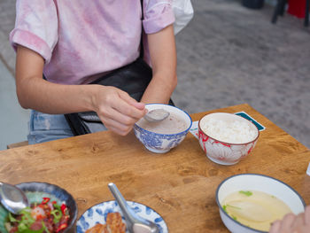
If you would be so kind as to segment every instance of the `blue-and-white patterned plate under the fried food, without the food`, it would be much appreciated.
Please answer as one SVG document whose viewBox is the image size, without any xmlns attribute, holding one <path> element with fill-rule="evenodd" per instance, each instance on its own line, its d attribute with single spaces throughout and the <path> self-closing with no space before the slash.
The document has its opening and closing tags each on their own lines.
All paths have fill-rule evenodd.
<svg viewBox="0 0 310 233">
<path fill-rule="evenodd" d="M 168 232 L 166 222 L 149 206 L 144 206 L 143 204 L 133 201 L 127 201 L 127 204 L 138 216 L 155 222 L 159 227 L 159 233 Z M 90 207 L 84 214 L 81 215 L 80 219 L 76 222 L 76 232 L 84 233 L 87 229 L 94 227 L 97 223 L 105 224 L 106 215 L 113 212 L 119 212 L 125 222 L 125 218 L 121 213 L 118 203 L 115 200 L 106 201 Z M 128 230 L 126 230 L 126 233 L 128 233 Z"/>
</svg>

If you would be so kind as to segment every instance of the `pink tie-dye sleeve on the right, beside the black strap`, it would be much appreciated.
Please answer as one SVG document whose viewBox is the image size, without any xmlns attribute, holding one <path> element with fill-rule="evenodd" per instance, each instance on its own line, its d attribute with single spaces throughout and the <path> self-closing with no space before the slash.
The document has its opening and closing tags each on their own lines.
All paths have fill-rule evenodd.
<svg viewBox="0 0 310 233">
<path fill-rule="evenodd" d="M 146 34 L 157 33 L 174 23 L 172 0 L 144 0 L 143 28 Z"/>
</svg>

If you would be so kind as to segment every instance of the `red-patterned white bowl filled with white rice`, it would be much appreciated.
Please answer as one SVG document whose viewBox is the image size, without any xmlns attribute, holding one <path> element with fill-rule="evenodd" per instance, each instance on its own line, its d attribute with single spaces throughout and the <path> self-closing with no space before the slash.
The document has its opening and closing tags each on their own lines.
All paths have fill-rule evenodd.
<svg viewBox="0 0 310 233">
<path fill-rule="evenodd" d="M 198 136 L 208 159 L 221 165 L 233 165 L 253 150 L 260 131 L 241 116 L 210 113 L 199 120 Z"/>
</svg>

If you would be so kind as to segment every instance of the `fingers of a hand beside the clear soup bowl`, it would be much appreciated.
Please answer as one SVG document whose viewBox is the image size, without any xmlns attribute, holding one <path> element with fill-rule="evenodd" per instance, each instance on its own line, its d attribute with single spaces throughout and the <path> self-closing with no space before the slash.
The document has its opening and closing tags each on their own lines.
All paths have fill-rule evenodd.
<svg viewBox="0 0 310 233">
<path fill-rule="evenodd" d="M 282 221 L 275 221 L 269 233 L 309 233 L 310 232 L 310 206 L 306 206 L 304 213 L 286 214 Z"/>
</svg>

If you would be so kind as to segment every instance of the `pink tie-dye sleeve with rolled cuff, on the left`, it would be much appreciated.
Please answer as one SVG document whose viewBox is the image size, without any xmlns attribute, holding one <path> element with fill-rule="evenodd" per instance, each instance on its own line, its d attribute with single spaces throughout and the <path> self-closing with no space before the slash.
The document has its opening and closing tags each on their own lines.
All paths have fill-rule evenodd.
<svg viewBox="0 0 310 233">
<path fill-rule="evenodd" d="M 54 1 L 18 0 L 10 42 L 14 50 L 20 44 L 39 53 L 45 63 L 49 63 L 58 42 L 58 13 Z"/>
</svg>

